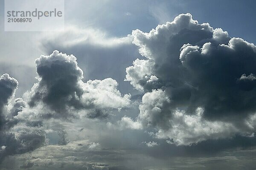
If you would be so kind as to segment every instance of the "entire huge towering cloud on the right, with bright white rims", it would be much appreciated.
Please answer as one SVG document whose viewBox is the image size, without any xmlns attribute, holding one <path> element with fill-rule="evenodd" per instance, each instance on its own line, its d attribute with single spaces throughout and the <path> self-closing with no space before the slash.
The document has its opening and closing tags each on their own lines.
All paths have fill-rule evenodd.
<svg viewBox="0 0 256 170">
<path fill-rule="evenodd" d="M 132 36 L 145 59 L 126 68 L 125 80 L 145 94 L 130 128 L 156 128 L 157 138 L 177 145 L 254 132 L 254 44 L 198 24 L 191 14 Z"/>
</svg>

